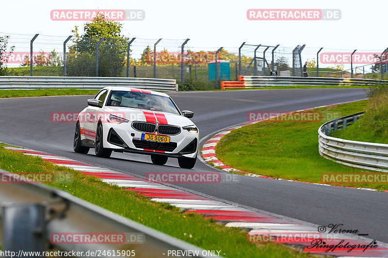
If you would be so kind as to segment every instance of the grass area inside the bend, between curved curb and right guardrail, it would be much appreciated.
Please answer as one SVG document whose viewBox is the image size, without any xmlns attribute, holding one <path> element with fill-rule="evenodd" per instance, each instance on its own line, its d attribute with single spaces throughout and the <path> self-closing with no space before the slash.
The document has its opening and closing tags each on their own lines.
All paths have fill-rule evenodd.
<svg viewBox="0 0 388 258">
<path fill-rule="evenodd" d="M 361 173 L 323 158 L 318 152 L 318 128 L 325 121 L 361 112 L 367 101 L 328 106 L 319 122 L 259 122 L 233 130 L 215 152 L 224 164 L 242 171 L 302 182 L 321 183 L 322 173 Z M 328 116 L 334 112 L 335 116 Z M 347 184 L 387 190 L 388 184 Z"/>
</svg>

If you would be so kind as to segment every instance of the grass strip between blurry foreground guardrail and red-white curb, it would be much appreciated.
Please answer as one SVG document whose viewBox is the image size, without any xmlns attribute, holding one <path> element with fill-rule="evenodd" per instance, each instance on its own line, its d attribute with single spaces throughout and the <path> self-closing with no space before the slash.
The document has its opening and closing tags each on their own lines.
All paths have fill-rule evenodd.
<svg viewBox="0 0 388 258">
<path fill-rule="evenodd" d="M 71 174 L 74 176 L 74 182 L 49 184 L 49 186 L 185 242 L 207 250 L 222 250 L 226 257 L 312 257 L 282 244 L 247 243 L 247 232 L 241 228 L 226 228 L 216 221 L 206 220 L 202 215 L 184 213 L 169 204 L 151 201 L 132 191 L 124 191 L 118 186 L 104 183 L 96 177 L 85 176 L 70 168 L 55 166 L 39 157 L 0 147 L 0 168 L 14 173 L 39 171 L 53 172 L 56 175 Z"/>
</svg>

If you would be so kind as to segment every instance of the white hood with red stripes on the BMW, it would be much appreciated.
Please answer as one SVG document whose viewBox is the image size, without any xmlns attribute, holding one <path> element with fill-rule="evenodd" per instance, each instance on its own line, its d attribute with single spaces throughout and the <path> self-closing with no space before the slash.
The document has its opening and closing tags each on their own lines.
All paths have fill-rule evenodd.
<svg viewBox="0 0 388 258">
<path fill-rule="evenodd" d="M 106 106 L 104 111 L 115 116 L 123 117 L 129 121 L 145 121 L 151 123 L 159 121 L 159 124 L 172 124 L 178 126 L 194 124 L 194 122 L 187 117 L 161 111 L 119 106 Z"/>
</svg>

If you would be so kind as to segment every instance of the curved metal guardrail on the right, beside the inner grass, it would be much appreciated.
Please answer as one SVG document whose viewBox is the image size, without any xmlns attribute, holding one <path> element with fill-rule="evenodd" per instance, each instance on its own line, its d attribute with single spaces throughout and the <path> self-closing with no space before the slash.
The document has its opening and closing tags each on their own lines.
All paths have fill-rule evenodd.
<svg viewBox="0 0 388 258">
<path fill-rule="evenodd" d="M 388 144 L 345 140 L 328 136 L 344 129 L 364 112 L 328 121 L 318 129 L 319 153 L 337 163 L 362 169 L 388 172 Z"/>
</svg>

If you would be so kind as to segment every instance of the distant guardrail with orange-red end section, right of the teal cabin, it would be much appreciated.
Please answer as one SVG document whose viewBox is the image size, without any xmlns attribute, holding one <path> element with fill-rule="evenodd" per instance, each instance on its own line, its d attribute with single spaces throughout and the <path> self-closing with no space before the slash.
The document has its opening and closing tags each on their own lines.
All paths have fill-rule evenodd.
<svg viewBox="0 0 388 258">
<path fill-rule="evenodd" d="M 350 79 L 332 77 L 283 77 L 283 76 L 239 76 L 239 81 L 222 81 L 221 89 L 256 88 L 272 86 L 373 86 L 381 80 Z"/>
</svg>

